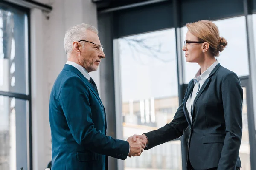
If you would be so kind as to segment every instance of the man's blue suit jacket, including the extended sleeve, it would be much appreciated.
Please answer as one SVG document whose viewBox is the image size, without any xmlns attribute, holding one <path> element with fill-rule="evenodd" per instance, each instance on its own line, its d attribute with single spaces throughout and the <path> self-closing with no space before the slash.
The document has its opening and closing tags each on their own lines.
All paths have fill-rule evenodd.
<svg viewBox="0 0 256 170">
<path fill-rule="evenodd" d="M 65 65 L 51 91 L 52 170 L 106 170 L 106 155 L 126 159 L 127 141 L 106 136 L 105 108 L 79 70 Z"/>
</svg>

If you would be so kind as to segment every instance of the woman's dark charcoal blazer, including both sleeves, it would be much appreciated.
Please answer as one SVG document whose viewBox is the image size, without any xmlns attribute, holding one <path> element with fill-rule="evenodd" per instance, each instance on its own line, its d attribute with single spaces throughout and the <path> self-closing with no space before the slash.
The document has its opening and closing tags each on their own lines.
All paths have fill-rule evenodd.
<svg viewBox="0 0 256 170">
<path fill-rule="evenodd" d="M 191 80 L 172 122 L 145 133 L 149 142 L 145 150 L 179 138 L 189 127 L 188 158 L 193 168 L 235 170 L 241 167 L 243 89 L 239 78 L 218 64 L 195 97 L 191 123 L 186 101 L 193 88 Z"/>
</svg>

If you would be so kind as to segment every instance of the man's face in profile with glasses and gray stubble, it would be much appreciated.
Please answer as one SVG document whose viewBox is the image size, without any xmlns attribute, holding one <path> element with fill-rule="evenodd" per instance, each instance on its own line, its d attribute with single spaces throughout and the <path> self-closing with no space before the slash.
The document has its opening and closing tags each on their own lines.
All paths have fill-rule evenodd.
<svg viewBox="0 0 256 170">
<path fill-rule="evenodd" d="M 93 42 L 96 45 L 81 41 L 81 43 L 84 43 L 84 47 L 81 48 L 81 64 L 88 72 L 97 71 L 101 59 L 105 58 L 104 52 L 99 49 L 99 45 L 101 45 L 99 37 L 93 31 L 88 30 L 84 40 Z"/>
</svg>

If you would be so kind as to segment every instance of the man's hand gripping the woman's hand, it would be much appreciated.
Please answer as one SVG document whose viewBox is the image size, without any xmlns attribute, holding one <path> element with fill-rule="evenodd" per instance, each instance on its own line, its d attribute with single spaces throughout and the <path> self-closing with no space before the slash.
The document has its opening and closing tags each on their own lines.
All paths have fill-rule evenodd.
<svg viewBox="0 0 256 170">
<path fill-rule="evenodd" d="M 131 136 L 127 139 L 127 142 L 130 144 L 130 153 L 128 154 L 129 157 L 131 156 L 140 156 L 143 152 L 143 149 L 146 146 L 145 141 L 137 138 L 134 140 L 134 137 Z"/>
</svg>

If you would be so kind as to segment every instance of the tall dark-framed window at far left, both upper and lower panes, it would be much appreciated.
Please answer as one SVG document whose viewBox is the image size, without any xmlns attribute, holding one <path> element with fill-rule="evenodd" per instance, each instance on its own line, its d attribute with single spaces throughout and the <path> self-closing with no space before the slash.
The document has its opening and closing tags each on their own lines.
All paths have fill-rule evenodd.
<svg viewBox="0 0 256 170">
<path fill-rule="evenodd" d="M 0 170 L 29 169 L 28 12 L 0 3 Z"/>
</svg>

